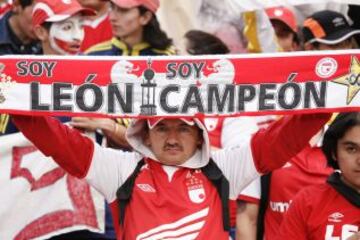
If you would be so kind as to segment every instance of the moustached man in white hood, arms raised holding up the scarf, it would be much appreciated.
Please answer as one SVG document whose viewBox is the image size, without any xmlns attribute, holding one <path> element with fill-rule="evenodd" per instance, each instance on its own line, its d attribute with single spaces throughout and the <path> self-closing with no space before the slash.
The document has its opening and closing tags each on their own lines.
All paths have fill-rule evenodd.
<svg viewBox="0 0 360 240">
<path fill-rule="evenodd" d="M 228 191 L 226 198 L 236 199 L 253 179 L 301 151 L 329 117 L 287 116 L 237 147 L 212 153 L 206 128 L 196 118 L 133 121 L 126 132 L 133 152 L 100 147 L 53 118 L 13 116 L 13 121 L 45 155 L 105 196 L 114 216 L 121 217 L 118 239 L 229 239 L 221 218 L 228 200 L 220 198 L 207 168 L 221 172 L 215 177 Z M 124 199 L 119 190 L 138 168 L 131 198 L 119 214 Z"/>
</svg>

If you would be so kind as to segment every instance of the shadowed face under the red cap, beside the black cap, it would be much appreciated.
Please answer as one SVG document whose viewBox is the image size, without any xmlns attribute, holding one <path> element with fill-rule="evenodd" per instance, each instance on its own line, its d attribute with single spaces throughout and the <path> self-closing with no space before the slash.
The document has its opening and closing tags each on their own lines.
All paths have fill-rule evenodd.
<svg viewBox="0 0 360 240">
<path fill-rule="evenodd" d="M 272 20 L 271 24 L 275 30 L 278 43 L 284 52 L 297 51 L 299 45 L 294 41 L 294 32 L 283 22 L 279 20 Z"/>
</svg>

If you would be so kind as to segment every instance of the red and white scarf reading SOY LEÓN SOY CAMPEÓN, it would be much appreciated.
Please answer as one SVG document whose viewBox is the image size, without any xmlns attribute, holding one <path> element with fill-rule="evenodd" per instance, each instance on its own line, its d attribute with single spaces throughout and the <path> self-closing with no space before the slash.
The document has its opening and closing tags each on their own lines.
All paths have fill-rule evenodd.
<svg viewBox="0 0 360 240">
<path fill-rule="evenodd" d="M 360 51 L 205 57 L 0 57 L 0 112 L 230 116 L 360 106 Z M 0 67 L 1 67 L 0 66 Z"/>
</svg>

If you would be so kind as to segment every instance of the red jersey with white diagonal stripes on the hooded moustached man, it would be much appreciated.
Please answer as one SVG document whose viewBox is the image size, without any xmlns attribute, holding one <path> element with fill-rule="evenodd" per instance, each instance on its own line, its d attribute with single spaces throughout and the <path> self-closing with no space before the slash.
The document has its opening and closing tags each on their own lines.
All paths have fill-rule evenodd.
<svg viewBox="0 0 360 240">
<path fill-rule="evenodd" d="M 171 179 L 166 170 L 146 161 L 125 211 L 124 239 L 228 239 L 211 181 L 200 170 L 181 168 Z"/>
</svg>

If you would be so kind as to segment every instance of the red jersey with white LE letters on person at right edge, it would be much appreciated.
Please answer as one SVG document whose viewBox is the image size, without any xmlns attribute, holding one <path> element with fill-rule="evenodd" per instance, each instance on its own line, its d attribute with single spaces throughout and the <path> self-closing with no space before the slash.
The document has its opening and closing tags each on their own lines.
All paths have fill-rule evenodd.
<svg viewBox="0 0 360 240">
<path fill-rule="evenodd" d="M 277 239 L 346 240 L 358 231 L 360 208 L 325 183 L 307 187 L 294 198 Z"/>
</svg>

